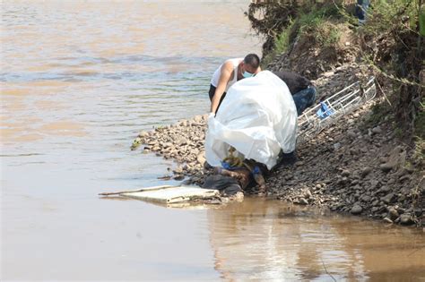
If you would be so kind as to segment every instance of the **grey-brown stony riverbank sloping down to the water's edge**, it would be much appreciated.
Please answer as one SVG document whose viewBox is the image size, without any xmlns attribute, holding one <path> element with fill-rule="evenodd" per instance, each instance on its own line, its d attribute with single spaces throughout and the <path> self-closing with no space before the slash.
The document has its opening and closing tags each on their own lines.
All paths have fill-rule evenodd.
<svg viewBox="0 0 425 282">
<path fill-rule="evenodd" d="M 323 73 L 314 81 L 317 98 L 354 81 L 366 81 L 368 76 L 368 70 L 358 64 Z M 297 162 L 267 176 L 268 195 L 388 223 L 423 225 L 423 170 L 417 169 L 412 148 L 397 140 L 388 121 L 370 123 L 370 106 L 358 108 L 316 138 L 299 144 Z M 197 115 L 141 132 L 133 149 L 143 144 L 143 153 L 154 152 L 178 162 L 161 179 L 203 184 L 205 176 L 212 174 L 212 169 L 204 168 L 206 118 Z"/>
</svg>

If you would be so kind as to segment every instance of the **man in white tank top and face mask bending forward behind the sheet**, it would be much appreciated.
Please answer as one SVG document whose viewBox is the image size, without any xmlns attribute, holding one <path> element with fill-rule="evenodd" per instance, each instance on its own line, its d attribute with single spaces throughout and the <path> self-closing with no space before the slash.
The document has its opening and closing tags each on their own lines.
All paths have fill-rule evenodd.
<svg viewBox="0 0 425 282">
<path fill-rule="evenodd" d="M 214 72 L 210 86 L 211 113 L 216 114 L 227 90 L 236 81 L 261 72 L 260 58 L 248 54 L 245 58 L 229 59 Z"/>
</svg>

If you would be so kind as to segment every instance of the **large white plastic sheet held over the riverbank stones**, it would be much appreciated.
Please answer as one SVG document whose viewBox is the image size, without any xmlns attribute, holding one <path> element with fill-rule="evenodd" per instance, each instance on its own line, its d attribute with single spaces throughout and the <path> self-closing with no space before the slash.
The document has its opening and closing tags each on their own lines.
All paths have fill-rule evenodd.
<svg viewBox="0 0 425 282">
<path fill-rule="evenodd" d="M 229 153 L 230 146 L 267 168 L 276 164 L 279 151 L 295 150 L 297 109 L 291 92 L 269 71 L 233 84 L 215 118 L 208 119 L 206 160 L 213 167 Z"/>
</svg>

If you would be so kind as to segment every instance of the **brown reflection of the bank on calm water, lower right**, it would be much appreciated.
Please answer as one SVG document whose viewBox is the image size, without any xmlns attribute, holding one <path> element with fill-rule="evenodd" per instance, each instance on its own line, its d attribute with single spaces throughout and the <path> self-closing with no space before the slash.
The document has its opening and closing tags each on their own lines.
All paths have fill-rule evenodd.
<svg viewBox="0 0 425 282">
<path fill-rule="evenodd" d="M 425 279 L 421 230 L 252 198 L 208 210 L 208 222 L 225 280 Z"/>
</svg>

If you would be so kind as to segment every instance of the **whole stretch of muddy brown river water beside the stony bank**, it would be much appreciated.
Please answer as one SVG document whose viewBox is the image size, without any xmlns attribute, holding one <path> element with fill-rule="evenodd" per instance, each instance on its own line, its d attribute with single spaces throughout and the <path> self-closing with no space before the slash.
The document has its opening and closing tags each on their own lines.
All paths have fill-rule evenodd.
<svg viewBox="0 0 425 282">
<path fill-rule="evenodd" d="M 204 114 L 215 68 L 260 52 L 249 1 L 1 3 L 1 271 L 8 280 L 425 280 L 422 230 L 248 198 L 100 199 L 163 182 L 141 130 Z"/>
</svg>

